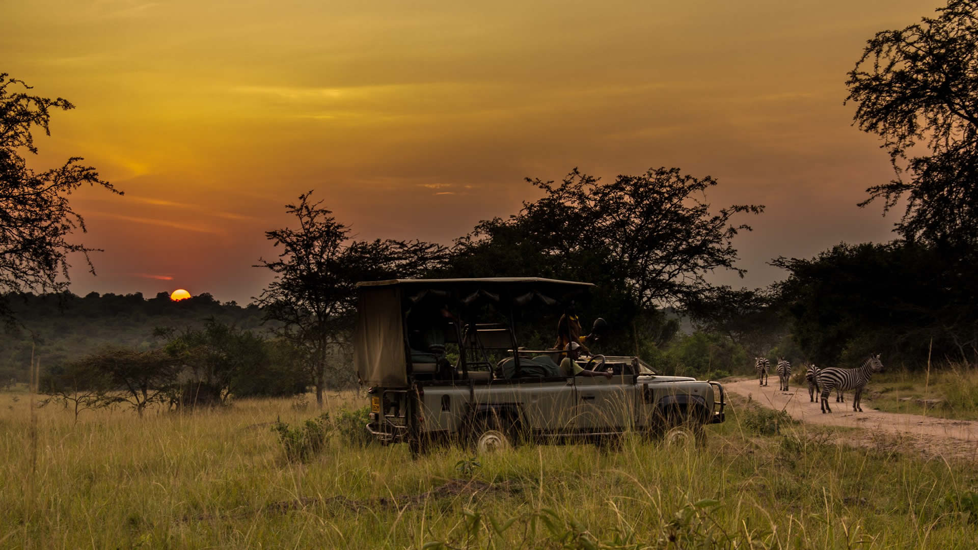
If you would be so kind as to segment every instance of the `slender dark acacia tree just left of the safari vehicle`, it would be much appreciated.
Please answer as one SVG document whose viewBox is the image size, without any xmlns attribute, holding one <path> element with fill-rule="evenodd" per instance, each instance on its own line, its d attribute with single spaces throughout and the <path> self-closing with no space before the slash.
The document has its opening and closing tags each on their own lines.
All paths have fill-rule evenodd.
<svg viewBox="0 0 978 550">
<path fill-rule="evenodd" d="M 275 273 L 256 302 L 265 317 L 281 323 L 278 336 L 305 350 L 316 402 L 323 390 L 331 352 L 348 345 L 358 281 L 413 277 L 436 267 L 444 248 L 420 241 L 352 241 L 349 226 L 310 200 L 312 191 L 287 205 L 298 228 L 266 231 L 281 253 L 255 267 Z"/>
</svg>

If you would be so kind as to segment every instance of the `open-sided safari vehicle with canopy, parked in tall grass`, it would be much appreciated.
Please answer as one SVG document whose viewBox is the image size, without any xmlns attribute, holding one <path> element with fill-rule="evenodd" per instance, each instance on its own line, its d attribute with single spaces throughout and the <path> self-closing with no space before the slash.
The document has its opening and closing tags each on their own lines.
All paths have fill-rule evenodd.
<svg viewBox="0 0 978 550">
<path fill-rule="evenodd" d="M 461 440 L 478 452 L 517 442 L 613 440 L 627 431 L 694 440 L 724 421 L 717 382 L 660 376 L 638 357 L 578 364 L 606 377 L 560 376 L 556 350 L 522 349 L 515 320 L 593 286 L 539 278 L 396 279 L 358 285 L 354 363 L 369 387 L 367 429 L 421 452 Z"/>
</svg>

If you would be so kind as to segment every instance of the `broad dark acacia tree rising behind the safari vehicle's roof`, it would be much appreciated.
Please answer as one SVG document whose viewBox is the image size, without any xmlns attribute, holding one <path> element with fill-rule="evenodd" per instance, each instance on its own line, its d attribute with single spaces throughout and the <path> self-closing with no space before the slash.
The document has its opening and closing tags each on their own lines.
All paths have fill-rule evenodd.
<svg viewBox="0 0 978 550">
<path fill-rule="evenodd" d="M 679 168 L 619 175 L 610 182 L 575 168 L 559 184 L 526 181 L 544 196 L 524 202 L 508 219 L 482 221 L 458 239 L 447 273 L 594 282 L 600 314 L 614 319 L 617 336 L 611 338 L 630 331 L 637 350 L 640 340 L 675 333 L 656 307 L 702 296 L 711 288 L 706 274 L 714 270 L 744 273 L 735 266 L 733 238 L 750 227 L 733 218 L 764 210 L 714 210 L 705 195 L 717 181 Z"/>
</svg>

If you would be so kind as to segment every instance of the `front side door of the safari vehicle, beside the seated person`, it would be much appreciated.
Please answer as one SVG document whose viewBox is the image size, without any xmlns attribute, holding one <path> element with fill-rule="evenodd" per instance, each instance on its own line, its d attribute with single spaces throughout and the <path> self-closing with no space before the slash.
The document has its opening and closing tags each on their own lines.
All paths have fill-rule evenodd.
<svg viewBox="0 0 978 550">
<path fill-rule="evenodd" d="M 636 398 L 632 378 L 576 377 L 578 431 L 621 432 L 630 428 L 635 419 Z"/>
</svg>

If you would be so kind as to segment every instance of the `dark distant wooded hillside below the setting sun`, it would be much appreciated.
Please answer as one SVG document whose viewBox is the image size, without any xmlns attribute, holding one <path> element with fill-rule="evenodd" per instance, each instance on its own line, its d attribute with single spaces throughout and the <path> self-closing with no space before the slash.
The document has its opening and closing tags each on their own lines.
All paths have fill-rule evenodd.
<svg viewBox="0 0 978 550">
<path fill-rule="evenodd" d="M 173 301 L 167 293 L 8 295 L 16 322 L 0 328 L 0 380 L 28 380 L 31 349 L 41 369 L 81 359 L 106 347 L 145 351 L 163 344 L 157 329 L 201 328 L 209 319 L 270 336 L 258 306 L 220 302 L 208 294 Z M 158 333 L 161 334 L 161 333 Z"/>
</svg>

